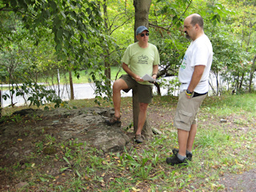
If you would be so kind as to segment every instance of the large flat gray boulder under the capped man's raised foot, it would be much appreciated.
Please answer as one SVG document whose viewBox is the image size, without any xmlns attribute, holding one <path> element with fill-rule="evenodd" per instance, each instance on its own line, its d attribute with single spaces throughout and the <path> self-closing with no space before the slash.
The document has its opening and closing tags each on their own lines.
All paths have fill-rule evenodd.
<svg viewBox="0 0 256 192">
<path fill-rule="evenodd" d="M 102 149 L 104 152 L 118 152 L 130 142 L 121 124 L 107 126 L 105 120 L 114 115 L 113 108 L 85 107 L 69 110 L 58 108 L 55 110 L 22 110 L 16 114 L 46 119 L 47 129 L 53 130 L 55 137 L 61 140 L 74 140 L 86 142 L 90 146 Z M 47 120 L 50 119 L 50 120 Z M 37 129 L 41 129 L 40 126 Z M 56 135 L 57 134 L 57 135 Z"/>
</svg>

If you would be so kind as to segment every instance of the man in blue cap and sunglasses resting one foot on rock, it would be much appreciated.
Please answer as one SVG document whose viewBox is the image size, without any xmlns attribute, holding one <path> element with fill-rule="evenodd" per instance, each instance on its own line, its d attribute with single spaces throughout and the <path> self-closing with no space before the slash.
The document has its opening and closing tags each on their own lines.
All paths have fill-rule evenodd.
<svg viewBox="0 0 256 192">
<path fill-rule="evenodd" d="M 134 87 L 138 87 L 138 129 L 135 134 L 135 142 L 143 142 L 142 128 L 146 121 L 146 110 L 152 102 L 152 83 L 145 82 L 142 77 L 149 74 L 156 79 L 158 74 L 158 64 L 160 63 L 158 49 L 149 43 L 149 30 L 146 26 L 139 26 L 136 30 L 135 42 L 127 47 L 122 57 L 122 68 L 127 74 L 124 74 L 113 85 L 114 117 L 106 120 L 106 124 L 113 125 L 120 122 L 120 104 L 121 90 L 128 92 Z"/>
</svg>

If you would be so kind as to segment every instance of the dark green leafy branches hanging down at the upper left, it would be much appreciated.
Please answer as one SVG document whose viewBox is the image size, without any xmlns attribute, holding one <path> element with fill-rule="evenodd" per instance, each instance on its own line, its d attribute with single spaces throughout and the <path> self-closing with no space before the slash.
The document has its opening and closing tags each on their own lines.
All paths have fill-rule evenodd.
<svg viewBox="0 0 256 192">
<path fill-rule="evenodd" d="M 46 35 L 46 30 L 42 29 L 49 29 L 54 34 L 58 59 L 65 61 L 64 67 L 77 70 L 81 63 L 90 66 L 88 58 L 94 51 L 90 48 L 95 43 L 90 39 L 97 37 L 102 27 L 101 13 L 95 2 L 2 0 L 0 6 L 1 12 L 13 11 L 22 18 L 30 34 L 38 37 L 35 39 L 36 44 Z M 72 83 L 70 88 L 72 89 Z"/>
</svg>

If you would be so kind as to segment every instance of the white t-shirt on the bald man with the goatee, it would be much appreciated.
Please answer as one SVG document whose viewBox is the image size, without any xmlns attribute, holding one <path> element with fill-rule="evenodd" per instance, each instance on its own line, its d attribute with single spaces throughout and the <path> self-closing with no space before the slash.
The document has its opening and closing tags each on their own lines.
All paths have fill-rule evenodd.
<svg viewBox="0 0 256 192">
<path fill-rule="evenodd" d="M 180 90 L 187 90 L 190 85 L 194 66 L 206 66 L 202 78 L 194 88 L 194 92 L 204 94 L 209 90 L 208 78 L 210 66 L 213 60 L 213 47 L 210 39 L 203 34 L 195 41 L 190 43 L 183 58 L 182 65 L 179 68 L 178 80 L 181 82 Z"/>
</svg>

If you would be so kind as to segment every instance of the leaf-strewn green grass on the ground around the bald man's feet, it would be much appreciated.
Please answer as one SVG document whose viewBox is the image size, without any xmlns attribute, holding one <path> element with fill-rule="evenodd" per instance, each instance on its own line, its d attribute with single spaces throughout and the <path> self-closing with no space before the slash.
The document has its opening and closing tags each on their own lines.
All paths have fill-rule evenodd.
<svg viewBox="0 0 256 192">
<path fill-rule="evenodd" d="M 206 98 L 198 114 L 198 134 L 189 166 L 166 165 L 171 149 L 178 146 L 174 126 L 166 123 L 158 127 L 162 135 L 116 154 L 105 154 L 76 139 L 60 142 L 44 134 L 44 130 L 36 133 L 30 129 L 25 133 L 35 134 L 35 152 L 25 157 L 25 166 L 18 161 L 0 167 L 0 171 L 14 180 L 28 181 L 21 191 L 223 191 L 222 176 L 256 169 L 255 100 L 256 94 Z M 176 103 L 175 97 L 154 97 L 150 107 L 170 113 Z M 94 106 L 94 100 L 74 100 L 69 105 L 70 108 Z M 102 107 L 106 106 L 111 105 L 102 102 Z M 131 99 L 123 98 L 122 110 L 130 106 Z M 14 109 L 3 109 L 4 114 L 13 112 Z M 221 118 L 227 122 L 220 123 Z M 14 122 L 21 122 L 20 117 L 14 118 Z M 42 154 L 46 146 L 60 151 L 54 155 Z M 52 176 L 50 170 L 58 167 L 58 163 L 62 165 L 59 174 Z M 43 172 L 46 165 L 48 173 Z"/>
</svg>

